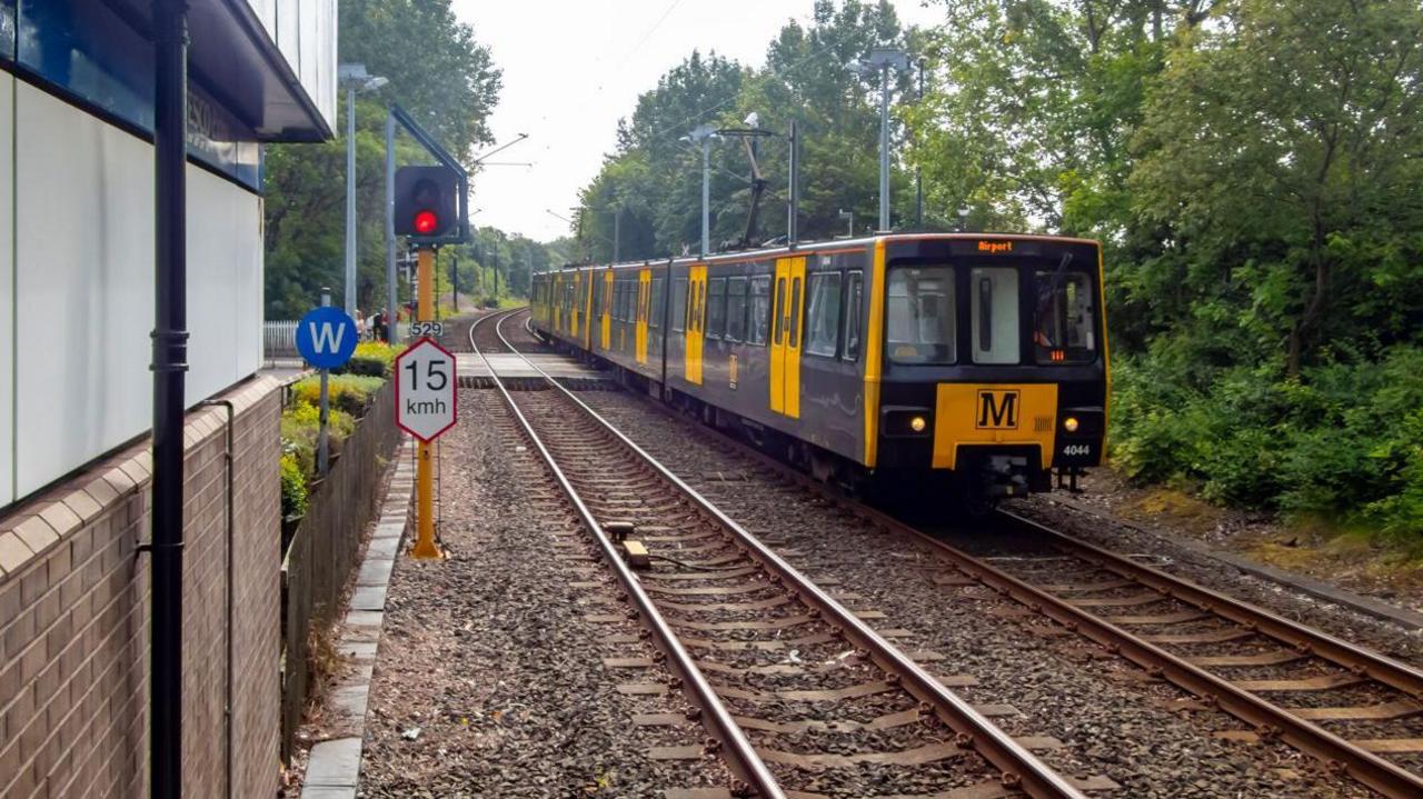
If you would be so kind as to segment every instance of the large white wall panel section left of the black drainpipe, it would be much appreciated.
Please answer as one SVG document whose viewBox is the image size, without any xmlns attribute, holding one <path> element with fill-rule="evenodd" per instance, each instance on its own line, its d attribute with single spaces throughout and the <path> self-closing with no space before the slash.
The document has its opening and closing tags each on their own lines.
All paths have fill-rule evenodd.
<svg viewBox="0 0 1423 799">
<path fill-rule="evenodd" d="M 26 495 L 148 428 L 152 148 L 16 87 L 17 471 Z"/>
</svg>

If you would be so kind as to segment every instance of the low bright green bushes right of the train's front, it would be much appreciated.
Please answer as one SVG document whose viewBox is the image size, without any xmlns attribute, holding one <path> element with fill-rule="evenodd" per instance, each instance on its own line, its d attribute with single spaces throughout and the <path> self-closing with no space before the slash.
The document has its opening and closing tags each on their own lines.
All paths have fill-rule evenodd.
<svg viewBox="0 0 1423 799">
<path fill-rule="evenodd" d="M 1191 385 L 1153 353 L 1114 371 L 1113 463 L 1212 500 L 1423 533 L 1423 351 L 1284 371 L 1229 367 Z"/>
</svg>

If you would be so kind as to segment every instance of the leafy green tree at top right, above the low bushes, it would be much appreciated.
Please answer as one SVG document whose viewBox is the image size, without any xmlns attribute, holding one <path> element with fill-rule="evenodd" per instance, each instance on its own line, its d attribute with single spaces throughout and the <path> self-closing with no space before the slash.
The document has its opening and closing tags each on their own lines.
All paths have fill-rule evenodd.
<svg viewBox="0 0 1423 799">
<path fill-rule="evenodd" d="M 1217 327 L 1298 375 L 1329 341 L 1417 336 L 1423 10 L 1232 0 L 1150 92 L 1131 178 Z"/>
</svg>

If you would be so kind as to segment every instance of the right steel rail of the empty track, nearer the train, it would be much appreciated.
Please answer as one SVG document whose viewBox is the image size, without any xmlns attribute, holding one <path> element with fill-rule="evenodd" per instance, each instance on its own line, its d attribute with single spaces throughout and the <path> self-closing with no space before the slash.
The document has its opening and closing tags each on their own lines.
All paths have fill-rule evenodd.
<svg viewBox="0 0 1423 799">
<path fill-rule="evenodd" d="M 495 324 L 495 333 L 507 347 L 512 348 L 501 331 L 502 323 L 504 320 L 501 318 Z M 764 543 L 760 542 L 760 539 L 748 533 L 744 527 L 723 513 L 716 505 L 702 496 L 696 489 L 672 473 L 672 471 L 663 466 L 642 446 L 593 411 L 572 391 L 559 384 L 558 380 L 539 368 L 538 364 L 528 357 L 524 357 L 524 361 L 534 371 L 542 375 L 549 385 L 561 391 L 564 397 L 571 400 L 575 405 L 578 405 L 578 408 L 588 414 L 589 418 L 596 421 L 608 434 L 638 455 L 639 459 L 662 475 L 663 479 L 670 482 L 679 492 L 683 493 L 683 496 L 690 499 L 702 510 L 712 515 L 717 523 L 730 530 L 750 554 L 774 573 L 773 577 L 778 577 L 785 587 L 794 590 L 811 608 L 818 610 L 822 618 L 834 623 L 852 644 L 868 653 L 879 668 L 888 672 L 892 678 L 898 678 L 902 688 L 921 702 L 926 702 L 931 708 L 933 708 L 939 719 L 958 734 L 956 741 L 961 746 L 972 748 L 985 761 L 999 769 L 1000 781 L 1005 786 L 1023 790 L 1029 796 L 1039 799 L 1083 798 L 1083 793 L 1066 778 L 1049 768 L 1044 762 L 1042 762 L 1042 759 L 1029 752 L 1002 728 L 978 712 L 969 702 L 963 701 L 958 694 L 949 691 L 942 682 L 935 680 L 932 674 L 905 655 L 898 647 L 875 633 L 875 630 L 865 624 L 858 616 L 851 613 L 845 606 L 840 604 L 840 601 L 822 591 L 795 567 L 771 552 Z"/>
</svg>

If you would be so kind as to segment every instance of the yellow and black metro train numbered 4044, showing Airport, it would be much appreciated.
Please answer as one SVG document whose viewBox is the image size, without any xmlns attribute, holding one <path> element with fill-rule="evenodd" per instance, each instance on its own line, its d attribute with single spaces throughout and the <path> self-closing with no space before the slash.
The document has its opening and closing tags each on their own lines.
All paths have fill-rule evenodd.
<svg viewBox="0 0 1423 799">
<path fill-rule="evenodd" d="M 820 479 L 973 509 L 1103 456 L 1101 246 L 881 235 L 534 276 L 542 338 Z"/>
</svg>

